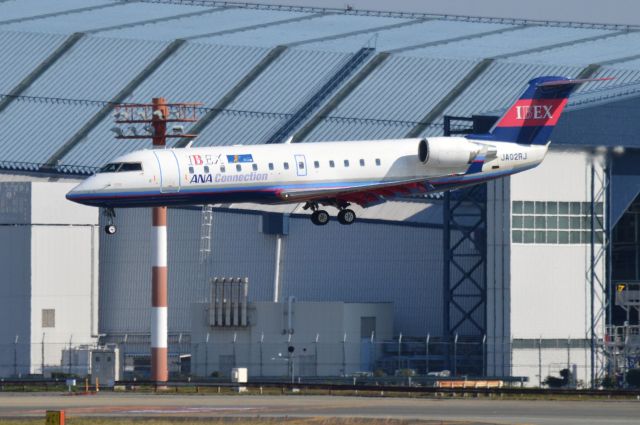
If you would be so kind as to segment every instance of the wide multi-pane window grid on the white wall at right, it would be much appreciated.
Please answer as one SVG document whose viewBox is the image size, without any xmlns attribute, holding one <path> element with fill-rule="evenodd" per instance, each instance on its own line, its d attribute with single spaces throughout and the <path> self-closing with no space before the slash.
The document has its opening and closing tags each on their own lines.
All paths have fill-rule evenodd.
<svg viewBox="0 0 640 425">
<path fill-rule="evenodd" d="M 603 206 L 595 208 L 595 241 L 602 243 Z M 535 244 L 591 243 L 590 202 L 513 201 L 511 241 Z"/>
</svg>

